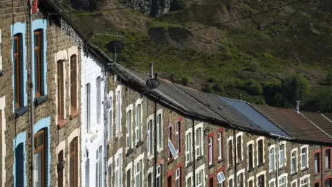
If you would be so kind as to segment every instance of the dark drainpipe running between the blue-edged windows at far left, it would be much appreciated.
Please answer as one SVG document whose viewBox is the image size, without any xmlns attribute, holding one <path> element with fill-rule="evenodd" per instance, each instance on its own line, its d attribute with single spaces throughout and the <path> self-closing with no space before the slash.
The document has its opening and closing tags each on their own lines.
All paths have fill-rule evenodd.
<svg viewBox="0 0 332 187">
<path fill-rule="evenodd" d="M 28 8 L 29 8 L 29 30 L 30 30 L 30 162 L 31 162 L 31 166 L 30 166 L 30 175 L 31 175 L 31 179 L 30 179 L 30 184 L 31 187 L 33 187 L 33 154 L 34 154 L 34 148 L 35 146 L 33 145 L 33 124 L 34 124 L 34 119 L 33 119 L 33 104 L 34 104 L 34 100 L 33 100 L 33 89 L 34 89 L 34 85 L 33 85 L 33 0 L 30 0 L 29 4 L 28 4 Z"/>
</svg>

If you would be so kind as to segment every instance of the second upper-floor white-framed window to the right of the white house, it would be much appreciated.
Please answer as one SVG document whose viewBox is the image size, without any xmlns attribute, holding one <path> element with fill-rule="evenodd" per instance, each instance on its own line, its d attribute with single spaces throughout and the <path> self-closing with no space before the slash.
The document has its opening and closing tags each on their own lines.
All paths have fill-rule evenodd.
<svg viewBox="0 0 332 187">
<path fill-rule="evenodd" d="M 116 136 L 122 136 L 122 125 L 121 125 L 121 118 L 122 118 L 122 86 L 118 85 L 116 87 Z M 118 113 L 120 111 L 120 113 Z"/>
</svg>

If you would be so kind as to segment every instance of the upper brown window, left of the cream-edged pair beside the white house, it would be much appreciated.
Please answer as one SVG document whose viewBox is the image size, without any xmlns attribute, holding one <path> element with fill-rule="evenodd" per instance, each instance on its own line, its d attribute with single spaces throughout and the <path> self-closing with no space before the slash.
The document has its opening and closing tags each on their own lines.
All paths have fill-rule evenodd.
<svg viewBox="0 0 332 187">
<path fill-rule="evenodd" d="M 64 61 L 57 61 L 57 114 L 59 119 L 65 118 L 64 113 Z"/>
</svg>

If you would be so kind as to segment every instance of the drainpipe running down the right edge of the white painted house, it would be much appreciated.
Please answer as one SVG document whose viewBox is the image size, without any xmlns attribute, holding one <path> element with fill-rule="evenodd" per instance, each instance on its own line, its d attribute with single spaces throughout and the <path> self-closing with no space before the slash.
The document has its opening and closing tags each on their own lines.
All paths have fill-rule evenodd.
<svg viewBox="0 0 332 187">
<path fill-rule="evenodd" d="M 104 70 L 104 82 L 105 82 L 105 87 L 104 87 L 104 186 L 107 186 L 107 158 L 108 158 L 108 150 L 109 150 L 109 145 L 108 145 L 108 130 L 107 130 L 107 102 L 108 102 L 108 97 L 107 97 L 107 91 L 108 91 L 108 78 L 107 78 L 107 67 L 105 67 Z"/>
</svg>

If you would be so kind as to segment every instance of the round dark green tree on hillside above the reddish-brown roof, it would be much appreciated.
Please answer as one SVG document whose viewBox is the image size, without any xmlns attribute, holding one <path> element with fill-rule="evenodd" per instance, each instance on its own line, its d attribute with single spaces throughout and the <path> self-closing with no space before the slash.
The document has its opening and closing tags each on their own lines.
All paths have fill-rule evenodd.
<svg viewBox="0 0 332 187">
<path fill-rule="evenodd" d="M 310 84 L 303 75 L 297 73 L 288 75 L 282 82 L 282 95 L 288 101 L 288 106 L 295 105 L 297 100 L 302 100 L 310 94 Z"/>
</svg>

